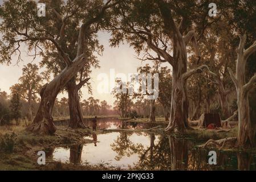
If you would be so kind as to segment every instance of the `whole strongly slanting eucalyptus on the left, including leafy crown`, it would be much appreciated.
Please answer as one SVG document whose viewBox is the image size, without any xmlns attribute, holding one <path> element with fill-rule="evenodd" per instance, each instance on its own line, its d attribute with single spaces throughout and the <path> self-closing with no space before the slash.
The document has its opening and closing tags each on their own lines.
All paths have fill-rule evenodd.
<svg viewBox="0 0 256 182">
<path fill-rule="evenodd" d="M 52 48 L 52 52 L 58 51 L 65 67 L 40 90 L 40 106 L 34 121 L 28 128 L 33 133 L 53 134 L 56 131 L 52 118 L 55 98 L 60 90 L 88 63 L 88 42 L 94 38 L 96 32 L 101 28 L 100 22 L 103 20 L 106 11 L 115 6 L 118 1 L 108 0 L 104 3 L 101 0 L 78 0 L 67 2 L 45 1 L 45 3 L 47 12 L 44 17 L 38 17 L 35 1 L 10 0 L 3 3 L 0 24 L 0 32 L 3 34 L 0 57 L 10 62 L 11 55 L 18 52 L 18 58 L 20 59 L 21 44 L 26 44 L 30 50 L 48 50 Z M 57 10 L 54 8 L 54 5 L 59 3 L 61 6 L 58 7 L 62 9 L 63 14 L 61 24 L 59 24 L 60 19 L 55 13 Z M 79 23 L 72 24 L 71 19 L 72 21 L 76 19 L 76 22 Z M 68 44 L 65 44 L 68 35 L 66 27 L 68 26 L 79 30 L 78 36 L 74 36 L 74 41 L 77 42 L 75 47 L 69 47 Z M 75 56 L 68 55 L 65 47 L 75 49 Z M 36 55 L 38 55 L 38 52 L 35 51 Z"/>
</svg>

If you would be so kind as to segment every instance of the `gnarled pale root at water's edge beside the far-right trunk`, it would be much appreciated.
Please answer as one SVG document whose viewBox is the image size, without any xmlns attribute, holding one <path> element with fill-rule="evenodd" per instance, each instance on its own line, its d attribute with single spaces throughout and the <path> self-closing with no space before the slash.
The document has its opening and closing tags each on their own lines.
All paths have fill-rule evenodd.
<svg viewBox="0 0 256 182">
<path fill-rule="evenodd" d="M 237 142 L 237 137 L 229 137 L 219 140 L 209 139 L 205 144 L 202 144 L 198 147 L 205 148 L 205 147 L 217 147 L 220 150 L 225 147 L 234 147 L 235 143 Z"/>
</svg>

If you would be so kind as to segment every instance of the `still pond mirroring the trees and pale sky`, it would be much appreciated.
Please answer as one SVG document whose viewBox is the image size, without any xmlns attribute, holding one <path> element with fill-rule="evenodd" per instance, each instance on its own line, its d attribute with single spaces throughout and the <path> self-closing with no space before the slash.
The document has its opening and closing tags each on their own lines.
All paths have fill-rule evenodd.
<svg viewBox="0 0 256 182">
<path fill-rule="evenodd" d="M 87 123 L 91 125 L 90 122 Z M 99 121 L 101 129 L 148 129 L 149 123 Z M 255 170 L 256 154 L 217 151 L 217 164 L 208 164 L 209 150 L 190 140 L 149 132 L 92 134 L 94 143 L 54 148 L 52 158 L 77 165 L 104 164 L 109 168 L 138 170 Z"/>
</svg>

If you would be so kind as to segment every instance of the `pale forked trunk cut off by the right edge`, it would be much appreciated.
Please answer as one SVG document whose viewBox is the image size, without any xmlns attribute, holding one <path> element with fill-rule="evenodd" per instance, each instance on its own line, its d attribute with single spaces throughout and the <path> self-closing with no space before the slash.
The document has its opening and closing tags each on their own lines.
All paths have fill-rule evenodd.
<svg viewBox="0 0 256 182">
<path fill-rule="evenodd" d="M 245 82 L 246 61 L 251 53 L 256 51 L 256 41 L 249 48 L 244 50 L 246 35 L 239 36 L 240 43 L 237 51 L 237 65 L 235 75 L 229 68 L 230 77 L 237 89 L 238 106 L 238 138 L 237 144 L 241 147 L 256 146 L 256 125 L 250 120 L 249 91 L 254 88 L 256 75 L 251 77 L 249 82 Z"/>
</svg>

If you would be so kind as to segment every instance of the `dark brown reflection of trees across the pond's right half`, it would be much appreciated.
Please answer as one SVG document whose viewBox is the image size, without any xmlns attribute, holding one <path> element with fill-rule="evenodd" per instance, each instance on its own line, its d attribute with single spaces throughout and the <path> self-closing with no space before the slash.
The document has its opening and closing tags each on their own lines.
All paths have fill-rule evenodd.
<svg viewBox="0 0 256 182">
<path fill-rule="evenodd" d="M 139 134 L 139 133 L 137 133 Z M 112 150 L 117 152 L 116 160 L 123 156 L 138 154 L 139 159 L 132 169 L 136 170 L 251 170 L 256 166 L 253 154 L 218 151 L 214 149 L 193 148 L 194 143 L 186 139 L 166 137 L 160 135 L 156 142 L 155 134 L 141 133 L 150 137 L 148 147 L 132 143 L 129 136 L 132 133 L 120 133 L 115 143 L 111 144 Z M 209 151 L 217 152 L 217 165 L 208 164 Z M 237 155 L 237 158 L 235 157 Z"/>
</svg>

